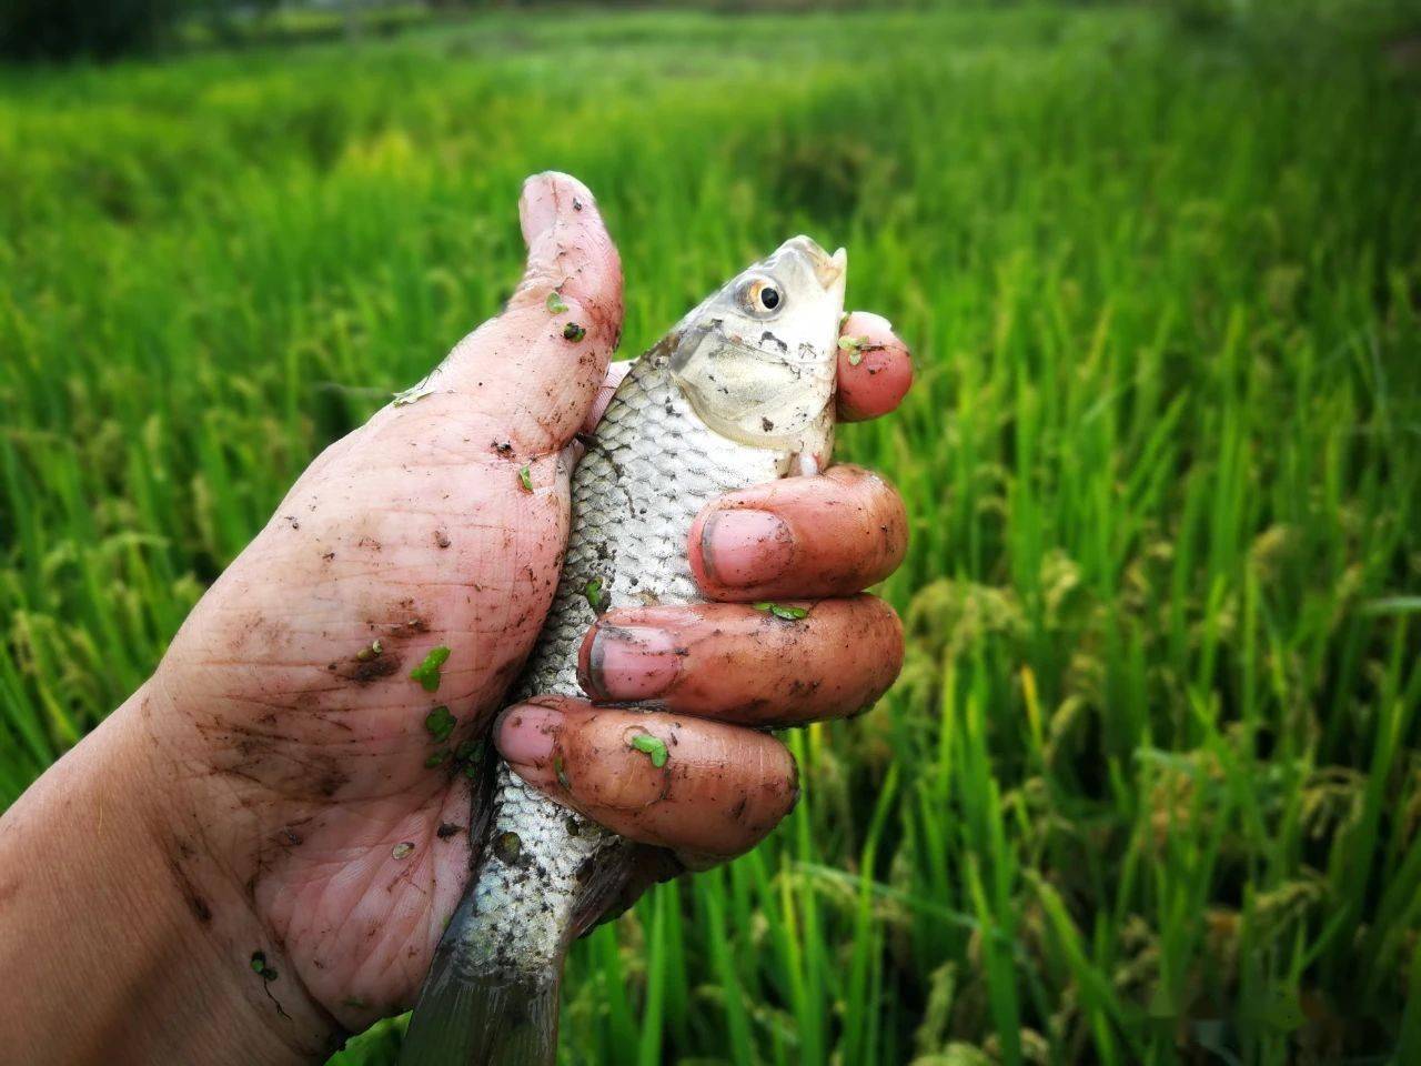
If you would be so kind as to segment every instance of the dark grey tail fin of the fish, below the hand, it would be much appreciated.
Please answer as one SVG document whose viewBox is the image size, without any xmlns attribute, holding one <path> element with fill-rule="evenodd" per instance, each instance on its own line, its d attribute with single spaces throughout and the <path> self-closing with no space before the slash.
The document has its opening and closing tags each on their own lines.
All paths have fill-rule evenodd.
<svg viewBox="0 0 1421 1066">
<path fill-rule="evenodd" d="M 436 962 L 399 1066 L 551 1066 L 561 959 L 541 972 L 459 974 Z"/>
</svg>

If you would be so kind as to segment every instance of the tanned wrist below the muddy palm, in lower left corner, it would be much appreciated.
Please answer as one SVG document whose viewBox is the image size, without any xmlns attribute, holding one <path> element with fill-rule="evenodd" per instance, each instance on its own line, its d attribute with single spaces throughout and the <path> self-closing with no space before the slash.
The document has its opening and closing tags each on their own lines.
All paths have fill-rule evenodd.
<svg viewBox="0 0 1421 1066">
<path fill-rule="evenodd" d="M 145 685 L 0 819 L 0 972 L 18 989 L 0 1040 L 33 1062 L 318 1060 L 330 1019 L 188 833 L 162 701 Z M 252 967 L 263 945 L 276 979 Z"/>
</svg>

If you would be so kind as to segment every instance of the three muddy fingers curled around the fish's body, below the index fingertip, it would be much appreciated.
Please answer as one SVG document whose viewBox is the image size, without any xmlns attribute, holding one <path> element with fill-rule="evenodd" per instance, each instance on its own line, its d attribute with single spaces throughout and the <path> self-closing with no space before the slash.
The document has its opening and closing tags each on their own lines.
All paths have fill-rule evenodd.
<svg viewBox="0 0 1421 1066">
<path fill-rule="evenodd" d="M 854 466 L 725 496 L 691 529 L 691 569 L 710 603 L 611 610 L 583 641 L 578 681 L 591 702 L 541 696 L 495 729 L 529 783 L 625 837 L 642 877 L 703 868 L 759 843 L 799 795 L 777 739 L 789 726 L 865 711 L 902 665 L 902 630 L 882 600 L 860 596 L 901 561 L 897 493 Z M 803 608 L 780 618 L 747 601 Z M 595 704 L 639 702 L 652 712 Z M 627 743 L 661 739 L 659 773 Z"/>
</svg>

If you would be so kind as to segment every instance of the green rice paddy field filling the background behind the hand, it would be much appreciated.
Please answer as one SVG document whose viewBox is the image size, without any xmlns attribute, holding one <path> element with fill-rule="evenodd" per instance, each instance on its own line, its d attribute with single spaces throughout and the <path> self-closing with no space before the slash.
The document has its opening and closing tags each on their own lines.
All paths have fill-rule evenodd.
<svg viewBox="0 0 1421 1066">
<path fill-rule="evenodd" d="M 580 942 L 564 1063 L 1421 1062 L 1421 20 L 493 13 L 0 70 L 0 806 L 598 193 L 624 351 L 794 232 L 915 348 L 908 662 Z M 399 1023 L 334 1062 L 392 1063 Z"/>
</svg>

